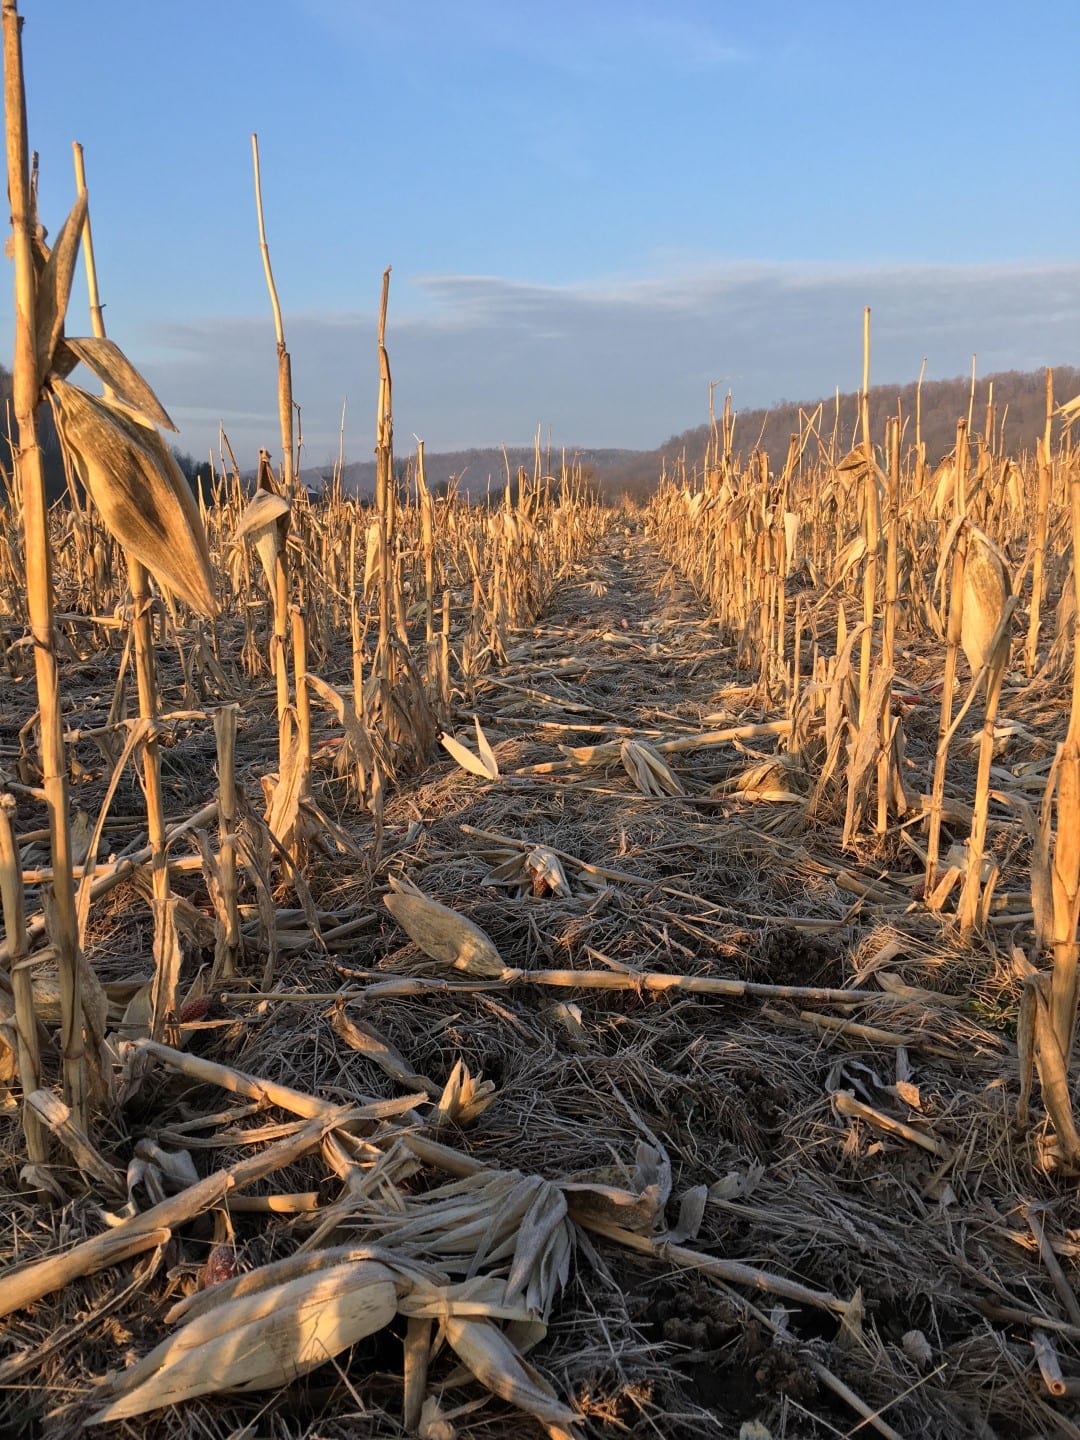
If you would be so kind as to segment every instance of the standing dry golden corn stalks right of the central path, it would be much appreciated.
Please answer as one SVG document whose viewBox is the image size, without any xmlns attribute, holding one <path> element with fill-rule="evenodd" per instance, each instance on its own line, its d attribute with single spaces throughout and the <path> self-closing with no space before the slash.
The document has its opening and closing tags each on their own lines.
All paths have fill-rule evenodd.
<svg viewBox="0 0 1080 1440">
<path fill-rule="evenodd" d="M 760 451 L 737 456 L 729 400 L 701 464 L 681 461 L 665 475 L 649 527 L 736 647 L 757 701 L 786 708 L 773 769 L 778 793 L 802 799 L 796 824 L 835 822 L 845 848 L 901 842 L 919 857 L 926 906 L 945 919 L 958 891 L 948 923 L 965 939 L 988 933 L 999 880 L 991 832 L 1027 829 L 1034 922 L 1021 1058 L 1028 1071 L 1032 1057 L 1038 1064 L 1058 1143 L 1076 1162 L 1066 1073 L 1080 910 L 1080 455 L 1068 428 L 1080 403 L 1056 408 L 1047 373 L 1037 452 L 1007 455 L 991 396 L 981 432 L 962 418 L 952 454 L 932 471 L 917 426 L 906 439 L 900 415 L 873 442 L 865 395 L 864 384 L 852 449 L 840 452 L 838 428 L 824 433 L 818 410 L 804 416 L 779 471 Z M 923 792 L 906 763 L 904 708 L 914 657 L 940 647 Z M 1014 697 L 1060 696 L 1067 706 L 1064 736 L 1043 736 L 1056 760 L 1038 806 L 992 785 L 1007 681 Z M 975 789 L 958 795 L 950 747 L 972 707 L 982 713 Z M 966 837 L 945 857 L 943 827 Z M 1053 962 L 1045 971 L 1041 956 Z M 1027 1094 L 1025 1084 L 1022 1110 Z"/>
</svg>

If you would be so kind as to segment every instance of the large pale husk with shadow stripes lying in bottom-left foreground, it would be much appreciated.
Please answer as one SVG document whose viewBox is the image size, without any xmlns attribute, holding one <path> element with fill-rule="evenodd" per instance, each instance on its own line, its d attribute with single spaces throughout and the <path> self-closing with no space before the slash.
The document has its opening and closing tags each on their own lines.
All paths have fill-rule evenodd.
<svg viewBox="0 0 1080 1440">
<path fill-rule="evenodd" d="M 229 1390 L 272 1390 L 383 1329 L 397 1313 L 395 1272 L 374 1261 L 216 1305 L 163 1341 L 89 1418 L 104 1424 Z"/>
</svg>

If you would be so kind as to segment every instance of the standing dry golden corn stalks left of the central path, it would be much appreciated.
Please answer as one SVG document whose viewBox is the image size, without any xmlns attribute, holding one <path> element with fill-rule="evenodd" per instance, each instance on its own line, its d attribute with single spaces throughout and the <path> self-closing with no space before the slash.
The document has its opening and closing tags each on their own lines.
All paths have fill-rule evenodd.
<svg viewBox="0 0 1080 1440">
<path fill-rule="evenodd" d="M 147 880 L 154 922 L 153 984 L 140 999 L 145 1014 L 128 1020 L 135 1031 L 160 1040 L 183 1001 L 186 912 L 176 876 L 186 860 L 203 870 L 216 917 L 215 971 L 223 976 L 245 963 L 245 888 L 255 887 L 265 899 L 275 886 L 292 886 L 310 909 L 304 877 L 312 852 L 337 847 L 357 854 L 347 828 L 320 806 L 312 707 L 327 711 L 340 730 L 337 769 L 370 825 L 367 858 L 377 858 L 387 783 L 429 757 L 455 704 L 468 700 L 485 667 L 501 662 L 513 631 L 544 609 L 605 517 L 586 498 L 579 475 L 566 467 L 557 478 L 546 475 L 539 452 L 531 477 L 521 472 L 514 487 L 484 504 L 455 492 L 432 494 L 422 445 L 399 480 L 386 347 L 389 271 L 377 334 L 374 504 L 347 495 L 340 474 L 312 503 L 298 478 L 291 361 L 269 266 L 256 144 L 259 236 L 278 334 L 282 459 L 275 467 L 264 451 L 253 478 L 245 481 L 223 439 L 209 494 L 196 497 L 161 435 L 174 429 L 167 410 L 105 336 L 78 145 L 75 203 L 55 242 L 46 243 L 30 176 L 14 0 L 4 0 L 3 23 L 16 433 L 0 508 L 0 649 L 10 678 L 33 670 L 37 713 L 23 730 L 17 779 L 0 773 L 0 1034 L 12 1041 L 4 1040 L 10 1063 L 0 1081 L 17 1074 L 23 1096 L 30 1096 L 48 1080 L 32 979 L 48 942 L 59 975 L 63 1096 L 72 1125 L 89 1135 L 111 1107 L 115 1056 L 107 1035 L 108 998 L 88 955 L 88 926 L 94 900 L 132 873 L 131 864 L 95 861 L 124 770 L 137 770 L 145 798 L 147 845 L 138 878 Z M 91 333 L 75 338 L 68 311 L 79 256 L 89 285 Z M 72 383 L 79 364 L 96 376 L 102 393 Z M 69 500 L 53 508 L 46 505 L 37 442 L 46 403 L 69 467 Z M 179 687 L 163 688 L 164 655 L 168 674 L 176 672 L 171 657 L 180 662 Z M 111 763 L 111 779 L 89 837 L 73 837 L 69 815 L 72 734 L 62 670 L 75 657 L 104 660 L 112 675 L 108 717 L 92 734 Z M 238 724 L 271 707 L 276 755 L 266 759 L 259 776 L 264 805 L 255 806 L 238 783 Z M 194 840 L 193 857 L 177 854 L 176 827 L 170 829 L 163 801 L 158 749 L 177 714 L 212 727 L 217 755 L 206 805 L 181 827 Z M 13 824 L 16 798 L 43 801 L 48 809 L 45 870 L 24 870 Z M 266 914 L 272 929 L 272 904 Z M 45 1166 L 48 1129 L 29 1104 L 23 1120 L 27 1159 Z"/>
</svg>

